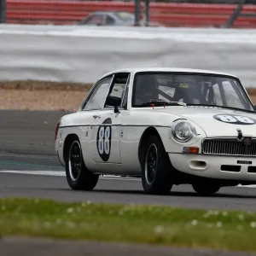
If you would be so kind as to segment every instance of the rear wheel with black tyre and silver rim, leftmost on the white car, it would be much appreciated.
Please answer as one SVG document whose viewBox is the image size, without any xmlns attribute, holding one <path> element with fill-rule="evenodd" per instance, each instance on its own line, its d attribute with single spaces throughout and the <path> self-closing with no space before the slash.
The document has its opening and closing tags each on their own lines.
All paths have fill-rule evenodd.
<svg viewBox="0 0 256 256">
<path fill-rule="evenodd" d="M 90 172 L 84 165 L 79 139 L 74 139 L 67 147 L 67 183 L 74 190 L 92 190 L 96 187 L 99 175 Z"/>
</svg>

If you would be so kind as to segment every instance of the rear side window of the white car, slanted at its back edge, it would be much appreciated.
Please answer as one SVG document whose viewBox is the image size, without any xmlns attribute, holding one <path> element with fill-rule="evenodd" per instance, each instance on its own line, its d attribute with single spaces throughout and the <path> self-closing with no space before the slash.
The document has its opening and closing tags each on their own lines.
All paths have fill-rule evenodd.
<svg viewBox="0 0 256 256">
<path fill-rule="evenodd" d="M 111 79 L 112 77 L 104 79 L 96 85 L 96 89 L 93 90 L 90 95 L 89 100 L 85 104 L 84 110 L 101 109 L 103 107 L 108 95 Z"/>
</svg>

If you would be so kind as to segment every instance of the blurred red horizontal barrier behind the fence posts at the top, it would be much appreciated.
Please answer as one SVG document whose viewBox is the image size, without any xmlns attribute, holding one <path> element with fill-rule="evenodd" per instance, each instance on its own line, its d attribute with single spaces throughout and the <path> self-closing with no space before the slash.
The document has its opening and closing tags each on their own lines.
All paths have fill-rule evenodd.
<svg viewBox="0 0 256 256">
<path fill-rule="evenodd" d="M 6 0 L 7 23 L 73 25 L 91 12 L 127 11 L 134 13 L 133 2 Z M 143 13 L 144 3 L 141 3 Z M 161 26 L 223 27 L 236 4 L 150 3 L 149 20 Z M 256 5 L 247 4 L 243 14 L 256 15 Z M 141 17 L 143 19 L 143 16 Z M 238 17 L 232 27 L 256 28 L 254 17 Z"/>
</svg>

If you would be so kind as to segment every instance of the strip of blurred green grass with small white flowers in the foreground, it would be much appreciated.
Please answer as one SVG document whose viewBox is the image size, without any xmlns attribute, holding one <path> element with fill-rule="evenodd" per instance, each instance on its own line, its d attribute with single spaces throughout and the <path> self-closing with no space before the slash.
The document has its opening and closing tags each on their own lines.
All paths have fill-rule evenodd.
<svg viewBox="0 0 256 256">
<path fill-rule="evenodd" d="M 9 198 L 0 233 L 256 251 L 256 213 Z"/>
</svg>

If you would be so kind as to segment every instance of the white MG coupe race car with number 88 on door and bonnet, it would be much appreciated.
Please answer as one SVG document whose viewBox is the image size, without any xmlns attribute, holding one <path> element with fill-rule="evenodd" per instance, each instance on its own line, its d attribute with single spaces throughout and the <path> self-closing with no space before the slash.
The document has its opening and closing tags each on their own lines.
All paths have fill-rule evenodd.
<svg viewBox="0 0 256 256">
<path fill-rule="evenodd" d="M 256 183 L 256 113 L 234 75 L 131 68 L 102 76 L 63 116 L 55 150 L 72 189 L 99 175 L 141 177 L 149 194 L 189 183 L 201 195 Z"/>
</svg>

